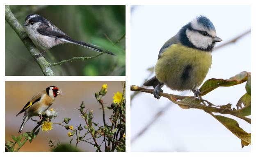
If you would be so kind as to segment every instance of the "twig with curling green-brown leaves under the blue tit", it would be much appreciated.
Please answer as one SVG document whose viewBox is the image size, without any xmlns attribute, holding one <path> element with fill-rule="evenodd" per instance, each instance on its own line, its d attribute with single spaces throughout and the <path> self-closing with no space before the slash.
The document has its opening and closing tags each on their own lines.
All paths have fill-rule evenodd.
<svg viewBox="0 0 256 157">
<path fill-rule="evenodd" d="M 251 115 L 251 73 L 243 71 L 227 80 L 224 79 L 209 79 L 203 83 L 199 89 L 200 96 L 206 95 L 218 87 L 228 87 L 234 86 L 237 84 L 245 84 L 246 93 L 240 97 L 236 108 L 232 108 L 231 104 L 226 105 L 215 105 L 208 100 L 199 100 L 194 96 L 181 96 L 173 95 L 160 92 L 160 96 L 166 97 L 174 104 L 177 104 L 183 109 L 196 108 L 209 113 L 215 119 L 217 119 L 221 124 L 223 124 L 227 129 L 231 131 L 235 136 L 241 139 L 241 146 L 247 146 L 251 144 L 251 133 L 247 133 L 245 130 L 240 128 L 239 124 L 235 119 L 223 116 L 223 115 L 232 115 L 238 117 L 249 124 L 251 124 L 251 119 L 248 117 Z M 144 92 L 153 94 L 153 89 L 146 89 L 139 86 L 130 86 L 131 91 Z M 202 104 L 202 102 L 207 103 L 208 105 Z M 219 113 L 222 115 L 216 115 L 213 113 Z"/>
</svg>

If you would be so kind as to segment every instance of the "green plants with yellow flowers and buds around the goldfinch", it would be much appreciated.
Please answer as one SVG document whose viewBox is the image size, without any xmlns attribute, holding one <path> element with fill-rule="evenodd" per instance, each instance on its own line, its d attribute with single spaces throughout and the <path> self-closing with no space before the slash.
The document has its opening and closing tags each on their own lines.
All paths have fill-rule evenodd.
<svg viewBox="0 0 256 157">
<path fill-rule="evenodd" d="M 57 117 L 57 111 L 51 108 L 42 114 L 41 121 L 36 121 L 37 125 L 30 132 L 23 133 L 18 137 L 12 135 L 14 141 L 5 142 L 5 152 L 18 152 L 24 144 L 36 138 L 41 128 L 42 132 L 48 132 L 53 129 L 53 124 L 62 126 L 66 130 L 70 130 L 67 135 L 70 137 L 69 144 L 61 144 L 60 141 L 53 142 L 49 139 L 48 143 L 54 152 L 80 152 L 77 148 L 78 144 L 89 143 L 96 152 L 125 152 L 125 127 L 126 127 L 126 99 L 125 99 L 125 82 L 123 84 L 123 92 L 114 93 L 111 106 L 106 106 L 103 97 L 107 94 L 107 84 L 103 84 L 101 90 L 95 93 L 95 98 L 101 106 L 103 115 L 103 125 L 94 122 L 94 114 L 92 110 L 85 109 L 84 102 L 79 108 L 75 108 L 80 113 L 80 117 L 84 119 L 84 124 L 78 124 L 76 128 L 70 125 L 71 118 L 65 117 L 62 122 L 52 122 Z M 105 110 L 112 110 L 112 115 L 109 117 L 110 123 L 105 119 Z M 74 141 L 74 142 L 73 142 Z M 73 143 L 75 145 L 73 146 Z M 104 149 L 103 149 L 104 146 Z"/>
</svg>

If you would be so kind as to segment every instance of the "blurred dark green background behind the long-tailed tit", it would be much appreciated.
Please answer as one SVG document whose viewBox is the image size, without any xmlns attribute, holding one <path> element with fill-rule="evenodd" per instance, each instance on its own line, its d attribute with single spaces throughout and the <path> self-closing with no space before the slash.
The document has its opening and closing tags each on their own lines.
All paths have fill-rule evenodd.
<svg viewBox="0 0 256 157">
<path fill-rule="evenodd" d="M 23 25 L 27 15 L 36 13 L 50 20 L 75 40 L 108 49 L 91 60 L 53 66 L 55 75 L 125 75 L 125 5 L 12 5 L 11 11 Z M 39 48 L 42 52 L 43 50 Z M 75 44 L 53 47 L 44 55 L 50 63 L 71 57 L 93 56 L 98 52 Z M 5 22 L 5 75 L 43 75 L 23 42 Z"/>
</svg>

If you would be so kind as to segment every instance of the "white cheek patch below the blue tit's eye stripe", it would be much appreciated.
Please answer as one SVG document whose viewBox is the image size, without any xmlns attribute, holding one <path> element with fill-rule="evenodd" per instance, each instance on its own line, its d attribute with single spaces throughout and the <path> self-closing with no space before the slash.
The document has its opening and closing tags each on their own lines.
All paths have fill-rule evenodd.
<svg viewBox="0 0 256 157">
<path fill-rule="evenodd" d="M 209 36 L 203 36 L 196 31 L 186 30 L 188 40 L 197 48 L 207 49 L 212 44 L 213 40 Z"/>
</svg>

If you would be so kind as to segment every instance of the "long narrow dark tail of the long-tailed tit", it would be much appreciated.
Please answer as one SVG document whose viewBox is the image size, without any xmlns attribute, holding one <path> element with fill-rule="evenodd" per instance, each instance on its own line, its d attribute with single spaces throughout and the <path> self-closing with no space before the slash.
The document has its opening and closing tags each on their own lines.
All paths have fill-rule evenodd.
<svg viewBox="0 0 256 157">
<path fill-rule="evenodd" d="M 105 51 L 105 50 L 102 50 L 101 48 L 99 48 L 96 45 L 87 44 L 85 42 L 80 42 L 80 41 L 77 41 L 77 40 L 74 40 L 74 39 L 71 39 L 71 38 L 59 38 L 59 40 L 62 40 L 63 42 L 69 42 L 69 43 L 72 43 L 72 44 L 78 44 L 78 45 L 87 47 L 89 49 L 92 49 L 92 50 L 100 52 L 100 53 Z M 112 53 L 110 51 L 105 51 L 105 53 L 110 54 L 110 55 L 115 55 L 114 53 Z"/>
</svg>

